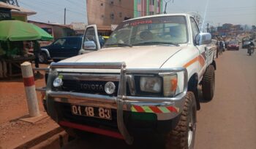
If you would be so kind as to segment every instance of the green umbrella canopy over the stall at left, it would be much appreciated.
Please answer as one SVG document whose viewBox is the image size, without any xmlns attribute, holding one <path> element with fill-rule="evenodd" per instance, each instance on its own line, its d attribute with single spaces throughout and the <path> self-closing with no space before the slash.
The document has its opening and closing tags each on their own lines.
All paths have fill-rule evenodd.
<svg viewBox="0 0 256 149">
<path fill-rule="evenodd" d="M 0 40 L 7 41 L 53 40 L 53 36 L 37 25 L 19 20 L 0 21 Z"/>
</svg>

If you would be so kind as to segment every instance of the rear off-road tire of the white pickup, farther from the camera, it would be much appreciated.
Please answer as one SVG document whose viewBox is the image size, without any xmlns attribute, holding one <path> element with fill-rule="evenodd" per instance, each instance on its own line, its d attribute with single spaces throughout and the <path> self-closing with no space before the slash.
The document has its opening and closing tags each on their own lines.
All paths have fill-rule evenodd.
<svg viewBox="0 0 256 149">
<path fill-rule="evenodd" d="M 214 97 L 215 72 L 214 65 L 209 65 L 203 75 L 202 92 L 203 100 L 210 101 Z"/>
</svg>

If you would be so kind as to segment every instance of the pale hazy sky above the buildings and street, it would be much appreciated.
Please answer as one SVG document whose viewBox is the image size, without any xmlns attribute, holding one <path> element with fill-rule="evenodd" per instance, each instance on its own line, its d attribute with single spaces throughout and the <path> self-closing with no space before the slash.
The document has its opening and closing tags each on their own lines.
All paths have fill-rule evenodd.
<svg viewBox="0 0 256 149">
<path fill-rule="evenodd" d="M 205 24 L 256 25 L 256 0 L 164 0 L 163 9 L 165 1 L 169 1 L 167 13 L 197 12 L 205 18 Z M 66 7 L 66 24 L 87 23 L 86 0 L 18 0 L 18 2 L 20 7 L 37 12 L 37 15 L 30 16 L 29 20 L 63 24 Z"/>
</svg>

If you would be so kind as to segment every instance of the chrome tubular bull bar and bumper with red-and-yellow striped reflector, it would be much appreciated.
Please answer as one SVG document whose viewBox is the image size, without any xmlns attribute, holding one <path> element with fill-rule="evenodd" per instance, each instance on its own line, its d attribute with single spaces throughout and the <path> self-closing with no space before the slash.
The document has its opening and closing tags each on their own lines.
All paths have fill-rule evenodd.
<svg viewBox="0 0 256 149">
<path fill-rule="evenodd" d="M 72 68 L 72 69 L 120 69 L 119 86 L 117 96 L 108 96 L 101 94 L 86 94 L 78 92 L 58 92 L 53 91 L 52 82 L 58 74 L 57 68 Z M 129 74 L 132 73 L 179 73 L 183 72 L 183 92 L 176 95 L 176 97 L 135 97 L 127 96 L 126 83 Z M 186 68 L 172 68 L 172 69 L 127 69 L 125 63 L 52 63 L 48 76 L 48 85 L 45 90 L 46 108 L 48 114 L 55 121 L 59 122 L 59 114 L 54 107 L 55 102 L 77 104 L 77 105 L 91 105 L 98 107 L 111 108 L 116 110 L 116 123 L 119 132 L 124 137 L 128 144 L 132 144 L 132 137 L 129 134 L 127 123 L 124 122 L 126 113 L 146 113 L 156 116 L 157 122 L 170 121 L 173 118 L 178 118 L 184 105 L 184 96 L 187 94 L 187 69 Z M 41 90 L 42 91 L 42 90 Z M 158 124 L 161 126 L 161 124 Z"/>
</svg>

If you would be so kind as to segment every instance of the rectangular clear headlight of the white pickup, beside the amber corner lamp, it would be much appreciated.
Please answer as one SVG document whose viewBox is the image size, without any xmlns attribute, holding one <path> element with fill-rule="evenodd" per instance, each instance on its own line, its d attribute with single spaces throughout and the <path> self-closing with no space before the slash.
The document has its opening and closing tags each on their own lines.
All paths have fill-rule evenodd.
<svg viewBox="0 0 256 149">
<path fill-rule="evenodd" d="M 153 76 L 141 76 L 140 77 L 140 91 L 142 92 L 161 92 L 162 79 Z"/>
</svg>

